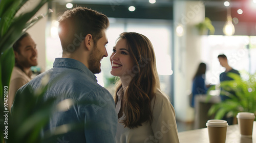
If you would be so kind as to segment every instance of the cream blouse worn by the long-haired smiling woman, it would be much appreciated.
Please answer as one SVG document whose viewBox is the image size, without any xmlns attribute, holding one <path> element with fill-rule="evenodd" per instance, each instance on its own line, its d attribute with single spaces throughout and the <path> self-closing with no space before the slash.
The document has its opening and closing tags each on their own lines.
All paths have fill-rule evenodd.
<svg viewBox="0 0 256 143">
<path fill-rule="evenodd" d="M 121 88 L 117 93 L 117 114 L 120 111 L 122 92 L 123 88 Z M 120 123 L 125 117 L 124 113 L 122 117 L 118 118 L 116 132 L 117 143 L 179 142 L 174 107 L 170 104 L 167 96 L 159 90 L 157 90 L 155 98 L 156 100 L 152 99 L 151 102 L 151 110 L 153 111 L 153 121 L 151 125 L 146 122 L 142 123 L 142 126 L 134 129 L 130 129 L 128 127 L 124 128 L 124 125 Z"/>
</svg>

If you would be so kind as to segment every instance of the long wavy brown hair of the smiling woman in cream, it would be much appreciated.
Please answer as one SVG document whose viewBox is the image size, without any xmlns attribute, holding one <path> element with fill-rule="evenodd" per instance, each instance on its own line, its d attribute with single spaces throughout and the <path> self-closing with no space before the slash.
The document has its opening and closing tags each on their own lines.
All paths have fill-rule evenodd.
<svg viewBox="0 0 256 143">
<path fill-rule="evenodd" d="M 126 100 L 123 106 L 125 118 L 121 123 L 129 128 L 141 126 L 144 122 L 151 124 L 153 120 L 151 101 L 155 97 L 156 90 L 160 89 L 153 45 L 146 36 L 135 32 L 121 33 L 119 38 L 126 39 L 129 53 L 135 63 L 130 72 L 122 75 L 132 79 L 123 95 Z M 116 104 L 117 92 L 121 87 L 122 83 L 118 81 L 115 93 Z"/>
</svg>

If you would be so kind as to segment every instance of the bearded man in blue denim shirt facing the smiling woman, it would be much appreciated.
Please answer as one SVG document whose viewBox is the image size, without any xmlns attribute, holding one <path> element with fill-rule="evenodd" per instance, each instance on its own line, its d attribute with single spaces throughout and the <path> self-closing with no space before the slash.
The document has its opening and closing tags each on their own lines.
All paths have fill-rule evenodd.
<svg viewBox="0 0 256 143">
<path fill-rule="evenodd" d="M 50 136 L 61 134 L 59 137 L 69 143 L 115 142 L 115 103 L 109 91 L 97 84 L 94 75 L 101 71 L 101 59 L 108 56 L 105 49 L 108 27 L 109 20 L 104 14 L 88 8 L 77 7 L 63 13 L 59 18 L 62 58 L 56 58 L 52 69 L 17 91 L 13 114 L 18 105 L 16 100 L 28 91 L 26 88 L 34 91 L 49 79 L 44 101 L 56 98 L 54 103 L 59 110 L 51 114 L 41 132 L 45 142 L 56 142 L 56 136 L 55 140 L 47 140 L 49 133 Z M 61 105 L 69 106 L 63 109 Z M 80 128 L 69 130 L 71 124 Z"/>
</svg>

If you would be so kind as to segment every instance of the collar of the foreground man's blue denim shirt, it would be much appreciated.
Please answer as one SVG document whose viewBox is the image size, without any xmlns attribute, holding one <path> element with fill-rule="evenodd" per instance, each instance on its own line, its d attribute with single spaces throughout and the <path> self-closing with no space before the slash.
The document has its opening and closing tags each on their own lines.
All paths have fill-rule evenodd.
<svg viewBox="0 0 256 143">
<path fill-rule="evenodd" d="M 86 74 L 93 80 L 96 80 L 96 76 L 92 73 L 91 70 L 88 69 L 87 66 L 85 66 L 83 63 L 80 61 L 77 61 L 75 59 L 70 59 L 70 58 L 56 58 L 53 67 L 63 67 L 63 68 L 73 68 L 80 70 L 82 73 Z"/>
</svg>

